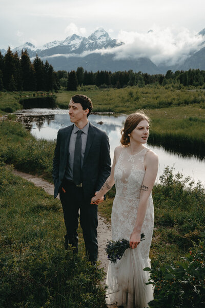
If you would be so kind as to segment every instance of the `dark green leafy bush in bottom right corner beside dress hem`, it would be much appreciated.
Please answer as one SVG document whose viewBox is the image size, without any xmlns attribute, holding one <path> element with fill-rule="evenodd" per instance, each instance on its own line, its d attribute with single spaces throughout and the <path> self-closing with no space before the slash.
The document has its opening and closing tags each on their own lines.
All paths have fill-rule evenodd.
<svg viewBox="0 0 205 308">
<path fill-rule="evenodd" d="M 202 241 L 182 261 L 152 269 L 150 282 L 155 286 L 150 308 L 202 308 L 205 306 L 205 233 Z"/>
</svg>

